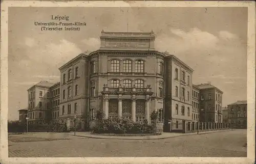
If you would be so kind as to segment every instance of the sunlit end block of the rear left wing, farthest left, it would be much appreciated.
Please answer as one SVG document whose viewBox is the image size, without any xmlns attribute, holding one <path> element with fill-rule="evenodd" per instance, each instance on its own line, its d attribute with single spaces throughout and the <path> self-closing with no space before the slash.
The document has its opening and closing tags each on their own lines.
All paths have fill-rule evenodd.
<svg viewBox="0 0 256 164">
<path fill-rule="evenodd" d="M 50 123 L 52 108 L 50 107 L 50 87 L 54 84 L 40 81 L 28 89 L 29 123 Z"/>
</svg>

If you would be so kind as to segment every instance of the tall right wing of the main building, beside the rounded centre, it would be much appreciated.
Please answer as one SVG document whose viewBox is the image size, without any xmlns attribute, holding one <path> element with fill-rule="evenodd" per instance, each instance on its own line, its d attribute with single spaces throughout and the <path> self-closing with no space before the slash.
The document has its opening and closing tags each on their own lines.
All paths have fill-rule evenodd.
<svg viewBox="0 0 256 164">
<path fill-rule="evenodd" d="M 182 120 L 194 120 L 192 74 L 193 69 L 177 57 L 165 57 L 165 118 L 172 120 L 172 129 L 182 129 Z"/>
</svg>

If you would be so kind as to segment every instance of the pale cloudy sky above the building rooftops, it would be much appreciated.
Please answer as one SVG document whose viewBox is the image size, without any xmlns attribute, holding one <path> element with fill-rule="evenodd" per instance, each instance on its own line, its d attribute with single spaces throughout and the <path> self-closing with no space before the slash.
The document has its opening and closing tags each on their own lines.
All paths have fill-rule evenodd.
<svg viewBox="0 0 256 164">
<path fill-rule="evenodd" d="M 194 69 L 193 84 L 211 82 L 223 107 L 247 99 L 247 8 L 9 8 L 8 120 L 27 107 L 27 89 L 56 83 L 58 68 L 86 50 L 97 50 L 102 30 L 151 32 L 155 48 Z M 41 31 L 34 22 L 51 16 L 86 22 L 80 31 Z"/>
</svg>

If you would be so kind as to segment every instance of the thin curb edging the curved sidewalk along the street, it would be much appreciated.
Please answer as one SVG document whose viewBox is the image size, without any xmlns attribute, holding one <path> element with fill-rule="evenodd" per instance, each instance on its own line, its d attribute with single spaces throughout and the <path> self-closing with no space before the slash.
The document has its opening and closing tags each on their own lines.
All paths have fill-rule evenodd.
<svg viewBox="0 0 256 164">
<path fill-rule="evenodd" d="M 234 129 L 233 129 L 234 130 Z M 95 136 L 85 136 L 85 135 L 74 135 L 74 134 L 69 134 L 69 135 L 73 135 L 73 136 L 80 136 L 80 137 L 85 137 L 85 138 L 92 138 L 92 139 L 105 139 L 105 140 L 160 140 L 160 139 L 169 139 L 169 138 L 176 138 L 176 137 L 179 137 L 179 136 L 185 136 L 185 135 L 202 135 L 202 134 L 208 134 L 208 133 L 215 133 L 215 132 L 223 132 L 223 131 L 232 131 L 231 129 L 227 129 L 227 130 L 212 130 L 212 131 L 206 131 L 206 132 L 204 132 L 204 133 L 198 133 L 197 134 L 197 132 L 196 133 L 181 133 L 181 134 L 178 134 L 178 135 L 176 135 L 176 136 L 163 136 L 163 137 L 160 137 L 160 138 L 150 138 L 150 136 L 143 136 L 143 138 L 141 138 L 141 139 L 133 139 L 133 138 L 131 138 L 131 139 L 127 139 L 127 138 L 102 138 L 102 137 L 100 137 L 100 136 L 107 136 L 107 135 L 100 135 L 100 136 L 97 136 L 97 135 L 95 135 Z M 119 136 L 119 137 L 123 137 L 123 136 Z"/>
</svg>

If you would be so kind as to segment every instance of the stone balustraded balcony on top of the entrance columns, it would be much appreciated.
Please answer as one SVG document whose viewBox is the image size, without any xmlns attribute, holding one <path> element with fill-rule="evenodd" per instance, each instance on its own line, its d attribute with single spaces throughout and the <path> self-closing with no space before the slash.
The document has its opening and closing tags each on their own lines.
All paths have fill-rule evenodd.
<svg viewBox="0 0 256 164">
<path fill-rule="evenodd" d="M 146 88 L 136 88 L 134 87 L 108 87 L 108 85 L 103 86 L 102 94 L 148 94 L 152 95 L 151 86 L 147 85 Z"/>
</svg>

